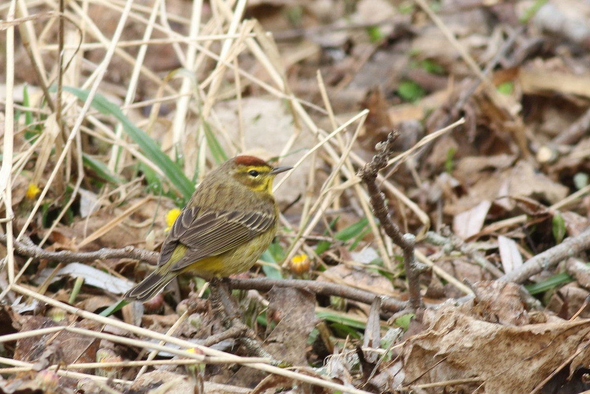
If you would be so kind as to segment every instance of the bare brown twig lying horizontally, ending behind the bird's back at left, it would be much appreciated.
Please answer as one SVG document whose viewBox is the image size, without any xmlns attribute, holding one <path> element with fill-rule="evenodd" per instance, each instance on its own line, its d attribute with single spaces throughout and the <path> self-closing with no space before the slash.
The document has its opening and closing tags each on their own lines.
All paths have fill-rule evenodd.
<svg viewBox="0 0 590 394">
<path fill-rule="evenodd" d="M 0 234 L 0 242 L 4 245 L 6 245 L 6 238 L 6 234 Z M 150 264 L 156 264 L 159 255 L 158 252 L 150 252 L 132 246 L 120 249 L 102 248 L 95 252 L 50 252 L 33 244 L 30 239 L 27 238 L 27 240 L 28 241 L 26 242 L 14 241 L 15 253 L 35 259 L 46 258 L 47 260 L 61 262 L 107 260 L 109 258 L 135 258 L 137 260 L 147 261 Z"/>
</svg>

